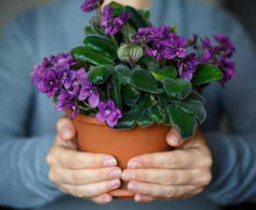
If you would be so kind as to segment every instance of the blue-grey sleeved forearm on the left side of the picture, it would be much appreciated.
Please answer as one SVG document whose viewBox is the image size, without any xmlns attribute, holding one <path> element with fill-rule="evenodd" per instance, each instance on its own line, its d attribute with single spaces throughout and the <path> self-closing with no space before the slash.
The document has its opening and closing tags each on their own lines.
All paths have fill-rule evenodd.
<svg viewBox="0 0 256 210">
<path fill-rule="evenodd" d="M 0 206 L 32 208 L 61 195 L 47 178 L 46 154 L 53 135 L 4 137 L 0 143 Z"/>
</svg>

